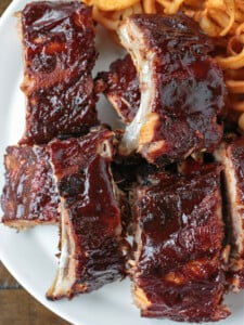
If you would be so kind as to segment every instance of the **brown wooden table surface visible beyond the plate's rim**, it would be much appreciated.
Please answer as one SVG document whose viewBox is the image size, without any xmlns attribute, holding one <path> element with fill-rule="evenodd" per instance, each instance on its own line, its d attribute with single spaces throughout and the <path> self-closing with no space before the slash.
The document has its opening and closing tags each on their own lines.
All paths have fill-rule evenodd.
<svg viewBox="0 0 244 325">
<path fill-rule="evenodd" d="M 0 15 L 11 0 L 0 0 Z M 0 325 L 68 325 L 34 299 L 0 262 Z"/>
</svg>

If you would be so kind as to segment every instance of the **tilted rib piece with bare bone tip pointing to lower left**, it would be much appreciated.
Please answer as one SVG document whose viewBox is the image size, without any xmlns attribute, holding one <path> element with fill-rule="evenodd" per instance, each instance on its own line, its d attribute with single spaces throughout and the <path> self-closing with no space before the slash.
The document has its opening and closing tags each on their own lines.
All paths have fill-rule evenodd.
<svg viewBox="0 0 244 325">
<path fill-rule="evenodd" d="M 61 256 L 49 299 L 94 290 L 124 274 L 112 142 L 113 133 L 101 130 L 50 143 L 61 195 Z"/>
</svg>

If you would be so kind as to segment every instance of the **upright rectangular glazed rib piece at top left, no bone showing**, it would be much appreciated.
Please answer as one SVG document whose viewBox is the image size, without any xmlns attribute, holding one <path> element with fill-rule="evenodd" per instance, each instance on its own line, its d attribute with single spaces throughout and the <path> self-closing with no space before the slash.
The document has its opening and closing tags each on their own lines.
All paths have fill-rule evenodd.
<svg viewBox="0 0 244 325">
<path fill-rule="evenodd" d="M 21 143 L 47 143 L 98 125 L 91 10 L 79 1 L 31 2 L 21 12 L 27 96 Z"/>
</svg>

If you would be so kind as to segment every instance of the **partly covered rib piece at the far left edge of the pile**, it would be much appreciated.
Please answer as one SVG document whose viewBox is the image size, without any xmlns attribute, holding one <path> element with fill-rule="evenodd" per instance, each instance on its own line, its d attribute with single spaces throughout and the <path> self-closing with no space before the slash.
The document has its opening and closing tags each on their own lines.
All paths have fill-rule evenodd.
<svg viewBox="0 0 244 325">
<path fill-rule="evenodd" d="M 17 230 L 57 223 L 59 195 L 46 148 L 9 146 L 4 161 L 2 222 Z"/>
</svg>

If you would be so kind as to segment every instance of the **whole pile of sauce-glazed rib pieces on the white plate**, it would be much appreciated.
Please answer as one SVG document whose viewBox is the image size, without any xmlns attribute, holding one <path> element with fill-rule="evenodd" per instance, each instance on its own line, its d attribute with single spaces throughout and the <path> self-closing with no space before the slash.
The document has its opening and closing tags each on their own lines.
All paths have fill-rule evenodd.
<svg viewBox="0 0 244 325">
<path fill-rule="evenodd" d="M 244 288 L 244 140 L 223 139 L 227 93 L 213 41 L 182 14 L 133 15 L 118 30 L 130 55 L 94 86 L 89 8 L 33 2 L 20 20 L 26 130 L 7 148 L 2 222 L 60 225 L 47 297 L 127 273 L 142 316 L 227 317 L 223 294 Z M 99 125 L 97 92 L 123 134 Z"/>
</svg>

